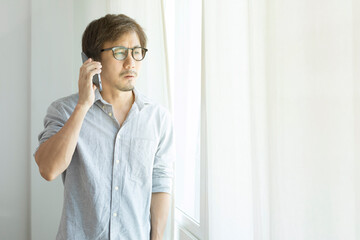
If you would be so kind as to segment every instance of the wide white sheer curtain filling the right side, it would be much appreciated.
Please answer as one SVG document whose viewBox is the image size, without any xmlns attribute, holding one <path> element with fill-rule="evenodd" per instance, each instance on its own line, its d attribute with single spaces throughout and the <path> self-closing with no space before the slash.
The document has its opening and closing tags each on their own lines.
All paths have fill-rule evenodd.
<svg viewBox="0 0 360 240">
<path fill-rule="evenodd" d="M 359 3 L 203 3 L 209 239 L 360 239 Z"/>
</svg>

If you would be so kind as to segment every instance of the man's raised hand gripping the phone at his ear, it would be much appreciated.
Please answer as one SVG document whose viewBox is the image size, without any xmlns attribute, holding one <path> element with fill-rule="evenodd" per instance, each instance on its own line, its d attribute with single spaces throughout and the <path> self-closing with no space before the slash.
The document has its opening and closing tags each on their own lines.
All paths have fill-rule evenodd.
<svg viewBox="0 0 360 240">
<path fill-rule="evenodd" d="M 86 60 L 80 68 L 79 73 L 79 100 L 78 105 L 89 109 L 95 100 L 94 90 L 96 85 L 92 79 L 95 74 L 101 73 L 101 63 L 93 61 L 91 58 Z"/>
</svg>

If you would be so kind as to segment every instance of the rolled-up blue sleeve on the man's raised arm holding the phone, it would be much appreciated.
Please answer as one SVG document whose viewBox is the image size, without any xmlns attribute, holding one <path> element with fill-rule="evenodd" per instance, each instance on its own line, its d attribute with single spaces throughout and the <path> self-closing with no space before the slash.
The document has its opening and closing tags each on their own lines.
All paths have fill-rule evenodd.
<svg viewBox="0 0 360 240">
<path fill-rule="evenodd" d="M 64 114 L 60 111 L 60 106 L 56 102 L 52 103 L 47 109 L 47 113 L 44 118 L 44 129 L 38 135 L 39 145 L 33 156 L 35 156 L 35 153 L 43 142 L 60 131 L 60 129 L 65 125 L 65 122 L 66 120 L 64 120 Z"/>
</svg>

